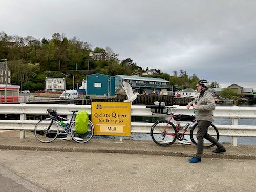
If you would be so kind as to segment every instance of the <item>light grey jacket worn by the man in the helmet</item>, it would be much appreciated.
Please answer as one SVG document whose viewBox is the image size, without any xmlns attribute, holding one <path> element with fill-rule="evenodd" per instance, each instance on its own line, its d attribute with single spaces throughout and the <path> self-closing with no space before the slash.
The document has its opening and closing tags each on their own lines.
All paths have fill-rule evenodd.
<svg viewBox="0 0 256 192">
<path fill-rule="evenodd" d="M 199 99 L 199 96 L 195 98 L 192 102 L 188 103 L 190 106 L 195 103 L 197 105 L 196 119 L 205 121 L 214 121 L 214 109 L 215 100 L 214 92 L 211 88 L 205 90 L 203 96 Z"/>
</svg>

